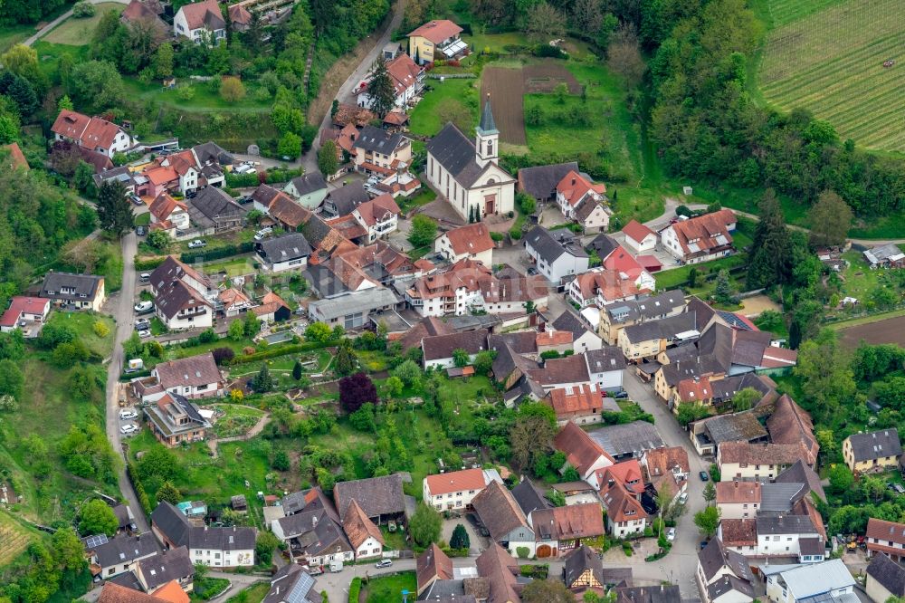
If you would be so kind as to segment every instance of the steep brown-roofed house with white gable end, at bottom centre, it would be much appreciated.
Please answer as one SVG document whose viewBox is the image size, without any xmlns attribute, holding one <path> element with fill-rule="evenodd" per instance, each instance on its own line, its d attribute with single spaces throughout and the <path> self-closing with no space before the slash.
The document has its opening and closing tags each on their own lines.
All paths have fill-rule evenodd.
<svg viewBox="0 0 905 603">
<path fill-rule="evenodd" d="M 499 544 L 510 555 L 516 555 L 519 547 L 535 554 L 535 535 L 528 518 L 506 486 L 492 481 L 472 499 L 472 507 L 481 523 L 491 533 L 491 541 Z"/>
</svg>

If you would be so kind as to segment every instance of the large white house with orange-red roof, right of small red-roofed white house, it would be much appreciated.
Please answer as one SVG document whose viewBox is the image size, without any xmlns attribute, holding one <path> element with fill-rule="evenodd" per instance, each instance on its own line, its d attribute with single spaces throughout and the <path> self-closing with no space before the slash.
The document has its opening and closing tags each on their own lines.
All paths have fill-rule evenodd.
<svg viewBox="0 0 905 603">
<path fill-rule="evenodd" d="M 709 262 L 735 252 L 731 235 L 735 226 L 732 210 L 720 209 L 668 225 L 660 236 L 663 246 L 679 262 Z"/>
</svg>

